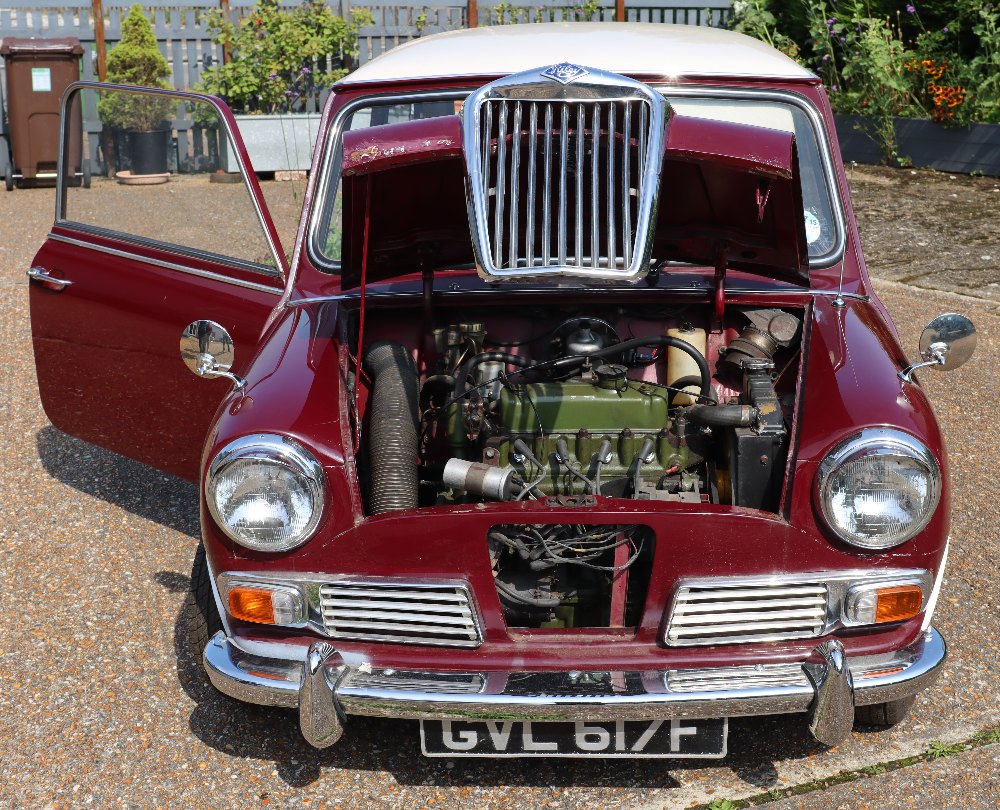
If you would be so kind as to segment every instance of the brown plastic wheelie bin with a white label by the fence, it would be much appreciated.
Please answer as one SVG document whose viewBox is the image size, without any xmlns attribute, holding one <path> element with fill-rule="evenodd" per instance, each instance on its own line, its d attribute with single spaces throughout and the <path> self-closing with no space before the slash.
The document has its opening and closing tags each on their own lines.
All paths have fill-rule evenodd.
<svg viewBox="0 0 1000 810">
<path fill-rule="evenodd" d="M 59 106 L 63 92 L 80 78 L 80 40 L 18 39 L 0 44 L 7 68 L 7 137 L 13 160 L 4 182 L 14 185 L 54 181 L 59 160 Z M 89 161 L 83 160 L 83 126 L 79 105 L 74 105 L 66 144 L 68 176 L 90 185 Z M 12 164 L 12 165 L 11 165 Z"/>
</svg>

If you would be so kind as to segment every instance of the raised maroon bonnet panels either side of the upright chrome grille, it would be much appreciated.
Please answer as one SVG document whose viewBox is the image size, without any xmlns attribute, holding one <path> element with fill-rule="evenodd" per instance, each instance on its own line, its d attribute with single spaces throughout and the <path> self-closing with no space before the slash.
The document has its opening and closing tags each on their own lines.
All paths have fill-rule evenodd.
<svg viewBox="0 0 1000 810">
<path fill-rule="evenodd" d="M 600 125 L 595 130 L 600 130 Z M 512 150 L 513 140 L 507 135 L 506 149 Z M 499 144 L 491 143 L 491 147 L 495 154 Z M 344 135 L 345 288 L 360 284 L 366 255 L 368 282 L 409 275 L 418 269 L 475 264 L 482 269 L 470 238 L 470 216 L 474 214 L 467 195 L 471 181 L 465 157 L 458 115 L 375 126 Z M 525 187 L 517 190 L 522 227 L 527 207 L 524 200 L 532 199 L 528 191 Z M 530 194 L 542 197 L 534 188 Z M 622 192 L 617 194 L 620 203 Z M 557 200 L 553 191 L 550 205 L 558 208 Z M 541 208 L 544 200 L 539 199 L 537 205 Z M 509 210 L 501 215 L 510 216 Z M 668 110 L 653 210 L 652 266 L 664 262 L 714 266 L 724 258 L 729 267 L 808 286 L 802 191 L 791 133 Z M 495 213 L 495 208 L 490 209 L 491 218 Z M 516 209 L 514 216 L 518 216 Z M 572 230 L 572 212 L 568 219 Z M 580 220 L 576 222 L 579 225 Z M 586 221 L 583 227 L 586 232 L 581 241 L 589 244 Z M 533 242 L 542 239 L 542 230 L 539 224 L 528 231 L 534 233 Z M 524 240 L 523 234 L 520 238 Z M 613 232 L 608 238 L 613 239 Z M 662 270 L 669 273 L 669 265 Z M 518 278 L 537 280 L 546 275 L 522 272 Z M 584 280 L 594 278 L 591 273 Z"/>
</svg>

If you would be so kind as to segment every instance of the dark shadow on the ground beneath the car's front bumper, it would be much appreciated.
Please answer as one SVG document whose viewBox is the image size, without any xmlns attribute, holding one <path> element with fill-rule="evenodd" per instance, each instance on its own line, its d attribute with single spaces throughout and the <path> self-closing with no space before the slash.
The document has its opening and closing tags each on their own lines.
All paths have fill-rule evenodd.
<svg viewBox="0 0 1000 810">
<path fill-rule="evenodd" d="M 680 787 L 672 774 L 707 764 L 705 760 L 428 759 L 420 753 L 416 721 L 368 717 L 348 718 L 343 738 L 332 748 L 317 751 L 302 738 L 295 711 L 253 706 L 215 691 L 202 669 L 200 651 L 188 640 L 183 609 L 174 624 L 174 651 L 180 685 L 196 704 L 189 718 L 195 736 L 230 756 L 273 762 L 279 778 L 293 787 L 318 780 L 324 769 L 345 769 L 388 772 L 400 785 L 442 789 L 628 786 L 669 790 Z M 744 782 L 767 789 L 778 782 L 776 760 L 806 757 L 821 747 L 809 736 L 802 715 L 734 719 L 729 750 L 733 753 L 719 764 Z"/>
</svg>

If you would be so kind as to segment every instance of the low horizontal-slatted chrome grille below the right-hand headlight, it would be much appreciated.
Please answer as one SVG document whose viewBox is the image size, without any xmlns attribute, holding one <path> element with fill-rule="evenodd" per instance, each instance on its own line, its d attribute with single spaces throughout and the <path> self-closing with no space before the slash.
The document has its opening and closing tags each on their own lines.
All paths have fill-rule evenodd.
<svg viewBox="0 0 1000 810">
<path fill-rule="evenodd" d="M 823 582 L 682 585 L 666 642 L 690 646 L 812 638 L 826 625 L 827 602 Z"/>
</svg>

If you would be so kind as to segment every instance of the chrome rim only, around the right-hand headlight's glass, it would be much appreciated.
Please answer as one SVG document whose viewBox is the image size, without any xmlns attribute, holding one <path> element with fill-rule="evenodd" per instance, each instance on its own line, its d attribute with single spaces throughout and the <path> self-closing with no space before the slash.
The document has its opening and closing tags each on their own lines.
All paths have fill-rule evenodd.
<svg viewBox="0 0 1000 810">
<path fill-rule="evenodd" d="M 828 490 L 832 473 L 851 461 L 872 455 L 905 456 L 924 464 L 933 487 L 931 506 L 924 516 L 913 523 L 904 534 L 888 543 L 885 541 L 865 542 L 853 534 L 841 531 L 830 510 L 831 500 L 828 497 Z M 899 428 L 885 425 L 862 428 L 834 444 L 820 462 L 813 495 L 823 517 L 823 524 L 831 534 L 852 548 L 877 553 L 901 546 L 926 529 L 941 505 L 943 490 L 944 481 L 941 465 L 930 448 L 916 436 Z"/>
</svg>

